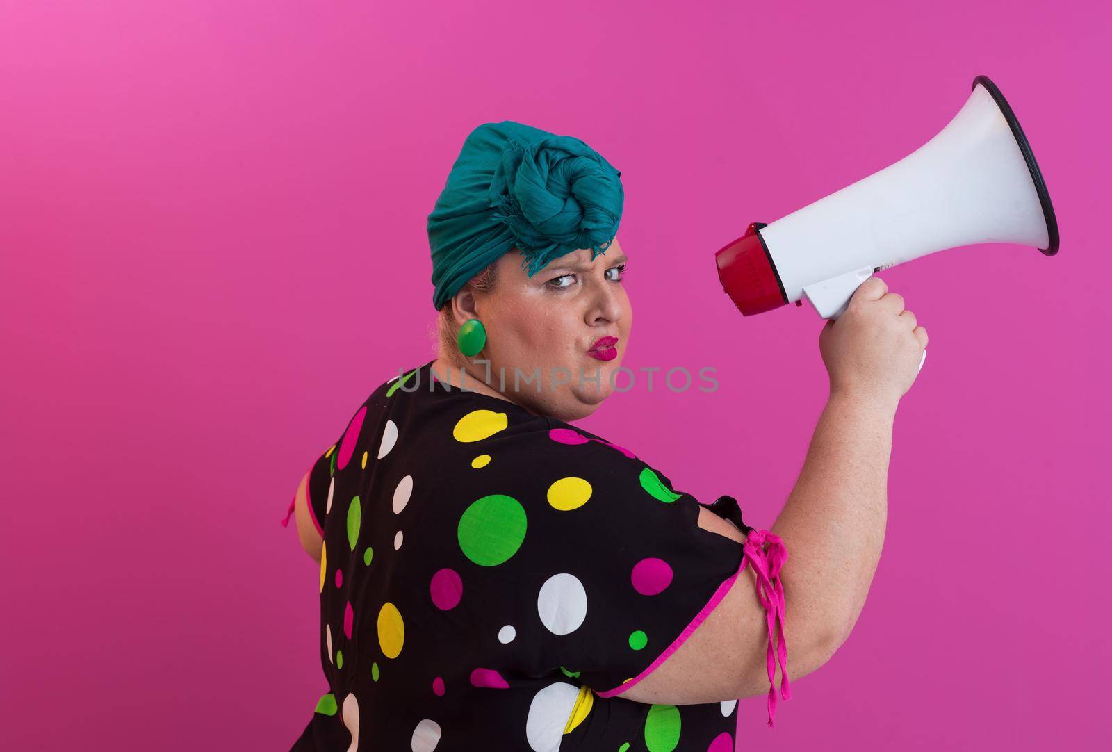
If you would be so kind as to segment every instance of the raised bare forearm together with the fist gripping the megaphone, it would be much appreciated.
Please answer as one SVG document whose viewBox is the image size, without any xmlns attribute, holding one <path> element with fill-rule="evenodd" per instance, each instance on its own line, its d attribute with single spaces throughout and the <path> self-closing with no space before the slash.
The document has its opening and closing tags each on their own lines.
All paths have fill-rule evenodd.
<svg viewBox="0 0 1112 752">
<path fill-rule="evenodd" d="M 878 277 L 818 338 L 830 398 L 773 532 L 792 558 L 781 575 L 787 621 L 826 624 L 831 654 L 856 623 L 880 562 L 893 420 L 926 343 L 903 297 Z"/>
</svg>

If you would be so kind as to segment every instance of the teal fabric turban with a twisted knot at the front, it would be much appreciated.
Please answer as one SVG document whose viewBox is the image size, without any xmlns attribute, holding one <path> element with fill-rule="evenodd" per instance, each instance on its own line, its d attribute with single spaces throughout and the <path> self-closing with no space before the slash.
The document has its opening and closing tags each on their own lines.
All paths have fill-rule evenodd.
<svg viewBox="0 0 1112 752">
<path fill-rule="evenodd" d="M 517 248 L 528 276 L 565 254 L 609 247 L 625 191 L 602 155 L 572 136 L 504 120 L 464 141 L 428 216 L 433 305 Z"/>
</svg>

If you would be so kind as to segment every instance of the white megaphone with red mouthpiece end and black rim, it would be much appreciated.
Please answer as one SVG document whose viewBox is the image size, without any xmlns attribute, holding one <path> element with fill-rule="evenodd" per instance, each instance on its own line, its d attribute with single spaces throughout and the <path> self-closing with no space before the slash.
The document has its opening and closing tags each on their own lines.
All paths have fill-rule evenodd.
<svg viewBox="0 0 1112 752">
<path fill-rule="evenodd" d="M 820 316 L 836 319 L 873 274 L 979 243 L 1035 246 L 1046 256 L 1059 246 L 1031 146 L 985 76 L 973 79 L 962 109 L 922 147 L 774 222 L 751 224 L 715 263 L 743 316 L 806 298 Z"/>
</svg>

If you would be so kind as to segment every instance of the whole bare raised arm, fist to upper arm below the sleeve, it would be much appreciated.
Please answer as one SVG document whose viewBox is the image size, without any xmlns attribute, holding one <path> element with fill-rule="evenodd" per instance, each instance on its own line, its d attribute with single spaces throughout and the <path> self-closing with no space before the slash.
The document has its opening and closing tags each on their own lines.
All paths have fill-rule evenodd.
<svg viewBox="0 0 1112 752">
<path fill-rule="evenodd" d="M 915 315 L 878 277 L 866 280 L 820 335 L 830 398 L 772 527 L 788 554 L 780 582 L 790 681 L 828 661 L 864 606 L 884 543 L 893 419 L 926 343 Z M 742 540 L 733 525 L 704 512 L 701 526 Z M 767 632 L 755 588 L 746 567 L 691 639 L 623 696 L 681 704 L 765 694 Z M 775 674 L 778 687 L 778 664 Z"/>
</svg>

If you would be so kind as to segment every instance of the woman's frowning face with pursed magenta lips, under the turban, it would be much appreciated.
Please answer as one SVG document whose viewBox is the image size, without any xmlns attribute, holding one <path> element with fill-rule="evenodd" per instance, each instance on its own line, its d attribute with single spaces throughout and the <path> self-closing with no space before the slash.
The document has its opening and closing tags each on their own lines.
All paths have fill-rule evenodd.
<svg viewBox="0 0 1112 752">
<path fill-rule="evenodd" d="M 494 291 L 475 300 L 487 332 L 487 345 L 475 358 L 490 360 L 488 385 L 515 403 L 564 422 L 586 417 L 614 390 L 613 374 L 629 342 L 633 309 L 622 281 L 626 255 L 614 238 L 594 261 L 590 249 L 580 248 L 548 261 L 533 277 L 523 260 L 516 249 L 499 258 Z M 588 353 L 600 337 L 617 338 L 613 348 L 603 349 L 606 357 L 613 355 L 609 359 Z M 485 368 L 468 370 L 485 378 Z"/>
</svg>

